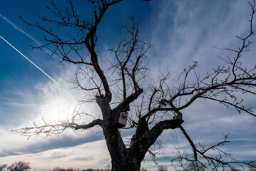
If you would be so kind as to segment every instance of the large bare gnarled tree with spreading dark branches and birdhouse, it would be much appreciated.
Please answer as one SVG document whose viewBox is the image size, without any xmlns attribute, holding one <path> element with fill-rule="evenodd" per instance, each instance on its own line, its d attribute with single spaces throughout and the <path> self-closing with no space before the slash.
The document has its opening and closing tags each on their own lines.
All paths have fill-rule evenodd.
<svg viewBox="0 0 256 171">
<path fill-rule="evenodd" d="M 88 1 L 93 8 L 92 18 L 81 16 L 73 2 L 69 0 L 68 6 L 62 8 L 56 6 L 53 1 L 49 1 L 47 8 L 53 14 L 52 19 L 39 17 L 41 22 L 37 21 L 35 24 L 21 19 L 27 26 L 39 28 L 45 34 L 46 43 L 33 48 L 47 48 L 51 51 L 51 57 L 58 56 L 61 63 L 73 63 L 78 66 L 72 81 L 87 95 L 81 101 L 97 103 L 101 109 L 101 116 L 91 123 L 78 124 L 77 120 L 82 120 L 85 112 L 75 111 L 71 120 L 59 121 L 55 125 L 45 122 L 44 125 L 21 128 L 16 132 L 28 137 L 39 134 L 59 135 L 67 128 L 76 131 L 99 126 L 103 130 L 111 155 L 112 170 L 138 171 L 147 152 L 155 156 L 149 149 L 157 142 L 163 130 L 180 129 L 190 142 L 193 157 L 179 155 L 175 160 L 199 162 L 203 167 L 213 167 L 214 170 L 234 163 L 250 165 L 250 162 L 235 160 L 232 155 L 220 150 L 219 147 L 228 142 L 227 135 L 222 142 L 210 147 L 195 145 L 183 128 L 185 120 L 183 120 L 182 110 L 189 108 L 196 100 L 205 99 L 235 108 L 238 113 L 256 116 L 252 108 L 244 106 L 243 99 L 237 95 L 237 93 L 246 95 L 256 93 L 255 67 L 247 68 L 240 60 L 245 55 L 244 52 L 250 48 L 252 43 L 250 38 L 255 36 L 255 28 L 253 28 L 255 0 L 249 2 L 252 12 L 247 36 L 237 36 L 241 41 L 241 46 L 222 49 L 232 51 L 235 55 L 222 58 L 226 65 L 214 68 L 203 78 L 194 72 L 198 62 L 193 63 L 180 74 L 178 86 L 170 86 L 167 83 L 170 73 L 163 74 L 158 84 L 145 85 L 143 83 L 148 73 L 146 53 L 150 48 L 150 43 L 140 40 L 138 23 L 134 17 L 130 17 L 127 24 L 123 25 L 129 36 L 117 46 L 108 49 L 107 53 L 110 58 L 101 63 L 96 51 L 99 38 L 98 28 L 108 9 L 124 0 Z M 43 24 L 73 28 L 73 34 L 61 36 L 53 31 L 53 27 L 46 28 Z M 193 73 L 195 73 L 195 81 L 190 80 Z M 84 78 L 89 78 L 90 81 L 85 82 Z M 123 111 L 135 113 L 128 117 L 126 129 L 135 128 L 135 134 L 129 145 L 123 142 L 118 129 L 119 125 L 113 125 L 116 115 Z M 208 155 L 210 150 L 217 150 L 219 155 Z M 223 156 L 229 157 L 230 160 L 224 160 Z"/>
</svg>

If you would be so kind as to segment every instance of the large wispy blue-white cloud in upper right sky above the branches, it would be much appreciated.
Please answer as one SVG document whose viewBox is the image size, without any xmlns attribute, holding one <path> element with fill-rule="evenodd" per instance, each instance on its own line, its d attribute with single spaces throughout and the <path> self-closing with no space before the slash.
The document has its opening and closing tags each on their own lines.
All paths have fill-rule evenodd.
<svg viewBox="0 0 256 171">
<path fill-rule="evenodd" d="M 222 62 L 217 54 L 223 51 L 212 46 L 236 48 L 241 42 L 235 36 L 244 36 L 249 29 L 249 6 L 243 1 L 161 1 L 153 6 L 150 68 L 158 71 L 158 63 L 172 78 L 192 61 L 198 61 L 203 71 L 216 67 Z"/>
</svg>

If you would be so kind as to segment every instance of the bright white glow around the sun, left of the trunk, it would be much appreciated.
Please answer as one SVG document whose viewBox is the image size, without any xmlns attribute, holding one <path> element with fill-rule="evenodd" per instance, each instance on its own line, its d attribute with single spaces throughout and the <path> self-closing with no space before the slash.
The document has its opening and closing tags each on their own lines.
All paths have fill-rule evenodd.
<svg viewBox="0 0 256 171">
<path fill-rule="evenodd" d="M 68 74 L 66 74 L 68 75 Z M 63 78 L 60 76 L 60 78 Z M 68 90 L 66 82 L 61 79 L 56 79 L 61 86 Z M 37 85 L 38 96 L 41 98 L 41 105 L 38 113 L 36 113 L 36 120 L 32 123 L 36 125 L 41 125 L 44 122 L 48 124 L 56 124 L 59 122 L 71 121 L 74 115 L 76 115 L 76 123 L 88 123 L 94 118 L 98 118 L 98 113 L 100 113 L 96 107 L 96 103 L 93 105 L 90 103 L 81 103 L 81 90 L 68 90 L 71 93 L 67 93 L 63 88 L 53 83 L 53 81 L 48 81 L 48 83 L 41 83 Z M 75 98 L 76 97 L 76 98 Z M 83 120 L 79 119 L 80 117 Z M 78 120 L 77 120 L 78 119 Z"/>
</svg>

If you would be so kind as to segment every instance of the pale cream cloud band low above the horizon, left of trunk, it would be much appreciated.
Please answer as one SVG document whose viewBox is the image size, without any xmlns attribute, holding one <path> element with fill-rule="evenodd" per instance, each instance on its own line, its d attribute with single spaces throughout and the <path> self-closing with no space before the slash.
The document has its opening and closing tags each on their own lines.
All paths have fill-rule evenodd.
<svg viewBox="0 0 256 171">
<path fill-rule="evenodd" d="M 89 142 L 73 147 L 46 150 L 34 154 L 1 157 L 1 163 L 11 164 L 19 160 L 30 162 L 32 168 L 73 167 L 103 168 L 110 161 L 105 141 Z"/>
</svg>

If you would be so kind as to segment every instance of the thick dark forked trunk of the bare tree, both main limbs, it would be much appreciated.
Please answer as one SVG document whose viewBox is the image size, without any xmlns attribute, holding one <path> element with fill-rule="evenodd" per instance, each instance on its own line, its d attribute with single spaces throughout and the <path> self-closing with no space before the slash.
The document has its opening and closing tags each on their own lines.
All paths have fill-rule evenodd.
<svg viewBox="0 0 256 171">
<path fill-rule="evenodd" d="M 162 121 L 156 124 L 149 132 L 147 128 L 146 131 L 144 131 L 148 132 L 147 136 L 137 136 L 136 142 L 127 148 L 118 128 L 112 125 L 114 116 L 120 113 L 119 110 L 121 109 L 111 110 L 108 100 L 104 96 L 98 96 L 97 103 L 103 115 L 102 128 L 108 152 L 111 155 L 112 171 L 140 171 L 140 163 L 144 159 L 148 148 L 155 142 L 158 136 L 163 133 L 163 130 L 178 128 L 182 123 L 178 120 Z M 141 129 L 138 129 L 138 131 L 141 131 Z"/>
</svg>

